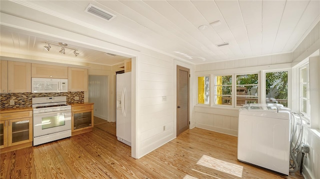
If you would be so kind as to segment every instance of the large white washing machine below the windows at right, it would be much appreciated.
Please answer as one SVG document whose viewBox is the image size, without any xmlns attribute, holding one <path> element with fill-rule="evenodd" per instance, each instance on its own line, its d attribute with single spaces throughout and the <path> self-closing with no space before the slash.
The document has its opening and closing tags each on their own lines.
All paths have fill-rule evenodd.
<svg viewBox="0 0 320 179">
<path fill-rule="evenodd" d="M 274 104 L 250 104 L 239 109 L 240 161 L 289 174 L 289 108 Z"/>
</svg>

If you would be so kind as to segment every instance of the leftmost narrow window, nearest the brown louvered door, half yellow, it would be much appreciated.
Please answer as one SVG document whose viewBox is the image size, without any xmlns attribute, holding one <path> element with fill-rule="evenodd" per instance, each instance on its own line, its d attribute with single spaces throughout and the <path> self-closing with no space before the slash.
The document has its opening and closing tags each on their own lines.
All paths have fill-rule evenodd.
<svg viewBox="0 0 320 179">
<path fill-rule="evenodd" d="M 198 103 L 199 104 L 209 104 L 209 76 L 199 76 L 198 77 Z"/>
</svg>

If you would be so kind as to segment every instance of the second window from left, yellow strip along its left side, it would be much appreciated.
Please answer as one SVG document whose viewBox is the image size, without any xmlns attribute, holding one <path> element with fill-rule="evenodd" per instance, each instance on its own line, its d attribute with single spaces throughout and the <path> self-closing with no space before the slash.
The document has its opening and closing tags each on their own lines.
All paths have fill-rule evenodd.
<svg viewBox="0 0 320 179">
<path fill-rule="evenodd" d="M 232 75 L 214 76 L 214 104 L 232 105 Z"/>
</svg>

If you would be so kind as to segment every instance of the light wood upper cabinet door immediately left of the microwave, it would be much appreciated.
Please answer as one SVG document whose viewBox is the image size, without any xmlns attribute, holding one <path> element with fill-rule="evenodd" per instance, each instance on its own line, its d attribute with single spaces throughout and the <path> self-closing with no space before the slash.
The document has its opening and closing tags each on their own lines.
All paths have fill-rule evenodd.
<svg viewBox="0 0 320 179">
<path fill-rule="evenodd" d="M 8 92 L 31 92 L 31 63 L 8 61 Z"/>
</svg>

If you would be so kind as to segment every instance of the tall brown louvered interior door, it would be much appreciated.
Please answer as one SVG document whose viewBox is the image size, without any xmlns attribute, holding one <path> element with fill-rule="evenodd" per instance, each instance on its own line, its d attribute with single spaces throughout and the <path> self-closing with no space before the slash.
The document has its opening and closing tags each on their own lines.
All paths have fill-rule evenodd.
<svg viewBox="0 0 320 179">
<path fill-rule="evenodd" d="M 189 69 L 176 67 L 176 136 L 189 128 Z"/>
</svg>

